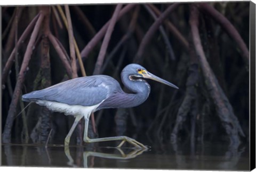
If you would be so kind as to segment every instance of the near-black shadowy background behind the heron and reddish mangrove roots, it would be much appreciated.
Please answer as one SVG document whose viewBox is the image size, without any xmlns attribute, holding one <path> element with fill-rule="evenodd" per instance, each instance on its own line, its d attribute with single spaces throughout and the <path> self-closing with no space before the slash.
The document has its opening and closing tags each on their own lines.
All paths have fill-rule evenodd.
<svg viewBox="0 0 256 172">
<path fill-rule="evenodd" d="M 221 2 L 208 3 L 219 11 L 225 18 L 234 25 L 239 35 L 249 47 L 249 2 Z M 126 4 L 124 4 L 126 5 Z M 172 4 L 154 4 L 160 12 L 166 10 Z M 249 67 L 241 55 L 241 49 L 234 41 L 234 37 L 229 36 L 225 29 L 215 21 L 207 12 L 199 10 L 198 30 L 207 62 L 213 71 L 214 76 L 218 80 L 219 89 L 223 90 L 223 94 L 227 97 L 226 105 L 231 105 L 234 116 L 236 116 L 238 124 L 231 125 L 230 131 L 241 126 L 244 136 L 235 133 L 227 134 L 230 120 L 230 113 L 221 114 L 216 108 L 216 100 L 211 96 L 211 87 L 204 75 L 202 63 L 196 53 L 195 44 L 191 33 L 191 4 L 182 3 L 173 12 L 171 12 L 165 21 L 169 21 L 188 43 L 186 47 L 181 43 L 177 35 L 173 33 L 166 22 L 163 23 L 163 29 L 166 36 L 163 36 L 157 30 L 153 37 L 148 41 L 143 55 L 138 61 L 139 64 L 147 68 L 153 73 L 167 81 L 170 81 L 179 87 L 179 90 L 169 88 L 166 85 L 148 81 L 151 85 L 151 93 L 148 100 L 138 107 L 131 109 L 106 109 L 95 113 L 95 121 L 97 124 L 97 134 L 91 131 L 91 135 L 99 135 L 99 137 L 127 135 L 134 139 L 146 142 L 149 145 L 155 143 L 165 145 L 170 142 L 182 143 L 204 143 L 204 142 L 223 142 L 230 143 L 230 138 L 236 140 L 235 143 L 249 142 Z M 100 31 L 101 27 L 111 19 L 116 5 L 76 5 L 69 6 L 71 21 L 73 24 L 74 37 L 77 41 L 79 50 L 87 45 L 87 43 Z M 123 6 L 124 7 L 124 6 Z M 26 29 L 30 21 L 37 15 L 41 9 L 38 6 L 20 6 L 20 18 L 18 20 L 17 36 L 18 39 L 22 32 Z M 89 26 L 85 25 L 78 10 L 91 23 L 93 28 L 90 31 Z M 57 8 L 56 8 L 57 9 Z M 62 6 L 65 12 L 64 7 Z M 15 45 L 15 37 L 10 30 L 12 23 L 15 21 L 15 13 L 17 7 L 2 7 L 2 67 L 5 66 L 11 51 Z M 129 29 L 134 13 L 138 12 L 138 18 L 135 20 L 134 29 Z M 59 12 L 57 10 L 57 12 Z M 14 17 L 13 17 L 14 16 Z M 65 28 L 61 17 L 62 29 L 57 23 L 52 7 L 50 11 L 50 30 L 52 34 L 61 42 L 69 54 L 68 32 Z M 133 63 L 134 58 L 138 57 L 138 49 L 146 32 L 153 25 L 154 19 L 145 8 L 145 4 L 137 4 L 129 12 L 117 21 L 114 31 L 107 48 L 107 54 L 103 66 L 106 68 L 101 71 L 102 74 L 113 76 L 121 83 L 119 74 L 122 68 L 127 64 Z M 7 25 L 10 27 L 7 28 Z M 44 23 L 45 24 L 45 23 Z M 41 58 L 42 50 L 42 25 L 37 36 L 37 41 L 29 62 L 29 70 L 25 75 L 25 82 L 22 84 L 22 93 L 28 93 L 33 90 L 43 89 L 42 82 L 50 85 L 65 81 L 70 77 L 67 75 L 57 51 L 49 42 L 50 68 L 48 72 L 42 75 L 40 81 L 36 84 L 40 68 L 44 59 Z M 6 29 L 7 28 L 7 29 Z M 6 31 L 5 31 L 6 30 Z M 15 30 L 15 29 L 14 29 Z M 131 32 L 129 38 L 126 39 L 119 48 L 118 43 L 127 33 Z M 175 57 L 170 55 L 170 46 L 166 46 L 164 37 L 170 42 Z M 18 50 L 18 62 L 13 63 L 11 73 L 8 76 L 8 82 L 2 88 L 2 131 L 5 130 L 7 115 L 10 111 L 10 104 L 13 98 L 15 83 L 17 82 L 17 72 L 22 65 L 22 59 L 28 45 L 29 37 L 22 42 Z M 84 58 L 83 64 L 87 75 L 92 75 L 97 62 L 97 57 L 101 48 L 101 41 L 95 46 L 89 56 Z M 46 60 L 45 60 L 46 61 Z M 78 63 L 77 63 L 78 64 Z M 18 70 L 16 70 L 18 69 Z M 47 73 L 47 74 L 46 74 Z M 82 76 L 80 70 L 78 76 Z M 191 77 L 190 77 L 191 76 Z M 44 78 L 45 77 L 45 78 Z M 193 83 L 195 81 L 195 83 Z M 47 85 L 47 84 L 46 84 Z M 49 87 L 48 85 L 47 87 Z M 123 87 L 123 84 L 121 84 Z M 191 88 L 192 86 L 192 88 Z M 65 91 L 65 90 L 63 90 Z M 21 96 L 18 95 L 18 96 Z M 223 96 L 223 95 L 222 95 Z M 190 98 L 190 103 L 186 102 Z M 27 103 L 25 103 L 25 106 Z M 22 109 L 20 101 L 17 104 L 15 116 Z M 50 115 L 44 115 L 50 114 Z M 223 121 L 223 117 L 227 121 Z M 44 120 L 44 118 L 47 118 Z M 177 118 L 181 119 L 179 121 Z M 233 119 L 232 119 L 233 118 Z M 42 119 L 38 122 L 38 119 Z M 26 121 L 26 124 L 24 123 Z M 42 122 L 43 121 L 43 122 Z M 25 118 L 22 115 L 15 118 L 12 125 L 11 142 L 12 143 L 45 143 L 52 129 L 51 139 L 49 143 L 63 144 L 71 124 L 73 117 L 65 116 L 58 113 L 50 113 L 42 107 L 35 104 L 25 109 Z M 38 125 L 36 125 L 38 124 Z M 27 125 L 26 131 L 24 126 Z M 178 128 L 174 130 L 174 128 Z M 26 132 L 27 137 L 26 140 Z M 74 134 L 74 135 L 77 135 Z M 238 140 L 237 140 L 238 139 Z M 232 141 L 231 141 L 232 142 Z M 71 144 L 79 144 L 78 136 L 71 137 Z M 234 144 L 235 144 L 234 143 Z"/>
</svg>

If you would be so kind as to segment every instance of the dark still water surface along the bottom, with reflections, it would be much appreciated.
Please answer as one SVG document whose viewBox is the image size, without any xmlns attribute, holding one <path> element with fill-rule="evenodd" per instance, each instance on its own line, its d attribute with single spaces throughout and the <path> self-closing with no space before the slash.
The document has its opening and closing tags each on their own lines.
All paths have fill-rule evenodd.
<svg viewBox="0 0 256 172">
<path fill-rule="evenodd" d="M 2 166 L 249 170 L 249 149 L 207 143 L 156 145 L 150 150 L 48 145 L 2 145 Z"/>
</svg>

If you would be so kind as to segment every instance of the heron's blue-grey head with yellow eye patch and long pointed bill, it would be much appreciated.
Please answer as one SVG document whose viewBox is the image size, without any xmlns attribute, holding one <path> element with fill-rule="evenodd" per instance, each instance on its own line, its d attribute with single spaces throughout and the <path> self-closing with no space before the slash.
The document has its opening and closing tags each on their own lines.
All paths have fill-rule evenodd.
<svg viewBox="0 0 256 172">
<path fill-rule="evenodd" d="M 143 79 L 151 79 L 157 82 L 161 82 L 163 84 L 169 85 L 170 87 L 179 89 L 176 85 L 163 80 L 161 78 L 159 78 L 156 75 L 151 74 L 150 72 L 148 72 L 146 70 L 145 67 L 138 65 L 138 64 L 129 64 L 127 65 L 122 73 L 128 74 L 129 75 L 129 80 L 131 81 L 143 81 Z"/>
</svg>

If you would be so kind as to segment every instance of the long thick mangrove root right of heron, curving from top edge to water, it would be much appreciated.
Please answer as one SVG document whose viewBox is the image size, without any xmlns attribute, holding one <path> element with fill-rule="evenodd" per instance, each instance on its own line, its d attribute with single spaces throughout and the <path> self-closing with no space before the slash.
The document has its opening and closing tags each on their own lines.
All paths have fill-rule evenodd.
<svg viewBox="0 0 256 172">
<path fill-rule="evenodd" d="M 218 80 L 215 78 L 214 73 L 206 60 L 205 53 L 202 47 L 201 39 L 198 31 L 198 14 L 199 11 L 195 5 L 190 5 L 190 25 L 193 36 L 194 46 L 198 55 L 199 64 L 202 68 L 205 78 L 206 87 L 212 97 L 217 114 L 222 122 L 222 126 L 225 128 L 227 135 L 229 136 L 230 146 L 238 147 L 240 144 L 239 135 L 245 136 L 241 125 L 238 122 L 237 117 L 233 112 L 233 108 L 230 105 L 225 93 L 221 89 Z M 209 84 L 211 83 L 211 84 Z"/>
</svg>

